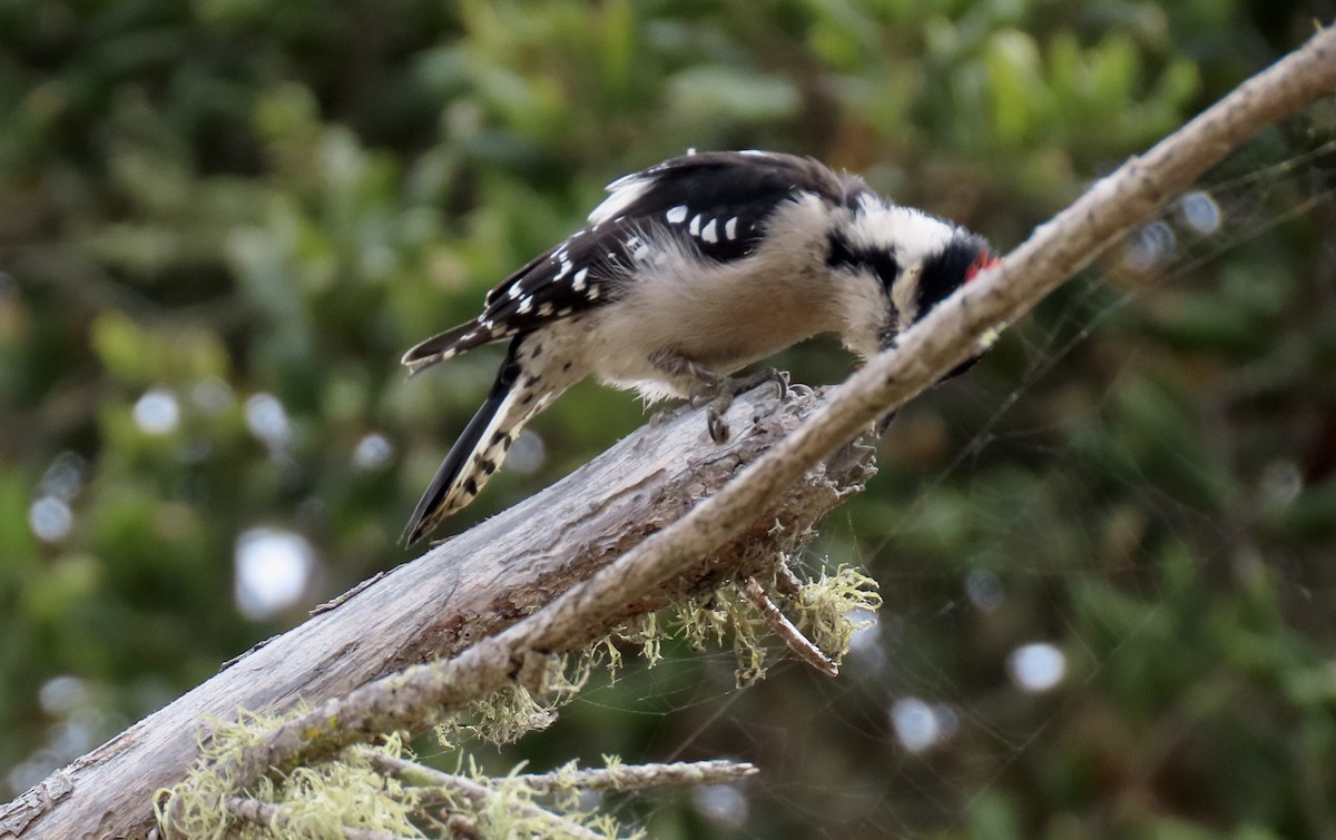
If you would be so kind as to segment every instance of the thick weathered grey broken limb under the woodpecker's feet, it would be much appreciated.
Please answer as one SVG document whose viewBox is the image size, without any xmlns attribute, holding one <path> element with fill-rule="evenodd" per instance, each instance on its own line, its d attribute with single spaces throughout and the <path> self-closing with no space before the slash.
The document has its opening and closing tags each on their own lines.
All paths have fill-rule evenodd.
<svg viewBox="0 0 1336 840">
<path fill-rule="evenodd" d="M 795 393 L 779 403 L 771 389 L 747 394 L 729 411 L 735 434 L 723 446 L 709 441 L 699 411 L 651 422 L 528 501 L 317 610 L 53 773 L 0 811 L 0 837 L 146 836 L 154 792 L 179 783 L 198 757 L 203 717 L 231 720 L 238 709 L 282 713 L 299 700 L 319 705 L 496 634 L 680 518 L 819 402 Z M 803 532 L 870 474 L 870 449 L 850 449 L 810 471 L 783 498 L 759 507 L 744 534 L 701 556 L 689 574 L 628 604 L 624 617 L 796 549 Z M 607 626 L 591 624 L 572 640 L 605 633 Z"/>
</svg>

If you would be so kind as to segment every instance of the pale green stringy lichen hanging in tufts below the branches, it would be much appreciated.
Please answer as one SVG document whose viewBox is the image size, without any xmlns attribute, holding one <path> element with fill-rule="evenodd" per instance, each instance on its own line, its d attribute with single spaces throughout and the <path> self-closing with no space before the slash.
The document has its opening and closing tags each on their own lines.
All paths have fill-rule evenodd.
<svg viewBox="0 0 1336 840">
<path fill-rule="evenodd" d="M 835 661 L 848 652 L 854 633 L 871 624 L 866 616 L 882 604 L 876 581 L 843 565 L 834 573 L 823 572 L 819 578 L 802 584 L 796 594 L 778 596 L 776 600 L 794 624 Z M 743 593 L 743 585 L 729 582 L 705 597 L 688 598 L 671 608 L 665 620 L 651 614 L 628 622 L 573 658 L 534 660 L 522 677 L 524 684 L 474 701 L 468 710 L 437 726 L 437 736 L 450 749 L 464 740 L 514 741 L 528 732 L 549 726 L 557 710 L 584 686 L 593 668 L 607 665 L 616 678 L 623 664 L 619 644 L 639 646 L 652 666 L 661 660 L 665 640 L 679 638 L 692 649 L 705 650 L 711 645 L 723 646 L 729 634 L 739 686 L 763 678 L 768 656 L 763 640 L 771 636 L 770 624 Z M 466 763 L 469 769 L 457 776 L 474 783 L 470 792 L 425 783 L 413 775 L 387 779 L 366 756 L 358 757 L 353 752 L 345 752 L 338 760 L 263 779 L 246 792 L 236 791 L 232 780 L 214 769 L 236 765 L 246 752 L 262 749 L 278 726 L 307 714 L 310 708 L 303 705 L 283 717 L 243 712 L 235 724 L 211 721 L 211 736 L 200 743 L 200 763 L 186 781 L 171 791 L 159 791 L 155 797 L 155 813 L 164 836 L 204 840 L 238 835 L 343 837 L 345 829 L 353 828 L 421 837 L 425 836 L 422 827 L 449 832 L 446 824 L 434 816 L 440 808 L 472 824 L 484 837 L 588 837 L 589 832 L 619 836 L 616 820 L 581 808 L 582 788 L 576 784 L 578 769 L 574 763 L 558 769 L 557 784 L 546 784 L 541 793 L 520 776 L 522 765 L 506 777 L 488 777 L 472 757 L 462 753 L 460 764 Z M 321 739 L 337 728 L 338 720 L 329 718 L 303 737 Z M 375 749 L 394 759 L 407 752 L 398 736 L 386 737 Z M 620 759 L 604 756 L 604 761 L 616 779 Z M 561 783 L 561 779 L 568 779 L 568 783 Z M 242 795 L 273 805 L 275 825 L 238 824 L 227 812 L 226 800 Z"/>
</svg>

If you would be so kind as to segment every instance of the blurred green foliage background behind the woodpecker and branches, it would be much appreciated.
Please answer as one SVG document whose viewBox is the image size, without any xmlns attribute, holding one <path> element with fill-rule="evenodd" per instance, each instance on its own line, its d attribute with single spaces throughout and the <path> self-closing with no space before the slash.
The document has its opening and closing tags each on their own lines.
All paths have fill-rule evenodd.
<svg viewBox="0 0 1336 840">
<path fill-rule="evenodd" d="M 612 178 L 810 154 L 1006 251 L 1331 16 L 0 3 L 0 800 L 410 557 L 500 355 L 399 354 Z M 882 584 L 839 678 L 673 649 L 482 759 L 760 765 L 605 803 L 655 837 L 1336 837 L 1333 140 L 1265 132 L 902 411 L 799 558 Z M 577 387 L 448 530 L 644 419 Z"/>
</svg>

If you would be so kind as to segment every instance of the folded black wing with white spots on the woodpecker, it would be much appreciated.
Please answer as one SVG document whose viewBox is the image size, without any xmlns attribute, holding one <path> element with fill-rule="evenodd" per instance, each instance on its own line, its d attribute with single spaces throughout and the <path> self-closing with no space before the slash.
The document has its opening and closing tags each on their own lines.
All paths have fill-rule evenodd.
<svg viewBox="0 0 1336 840">
<path fill-rule="evenodd" d="M 481 345 L 528 333 L 616 299 L 635 266 L 655 258 L 663 236 L 719 263 L 745 259 L 767 219 L 802 194 L 851 206 L 867 187 L 823 164 L 776 152 L 700 152 L 673 158 L 608 184 L 589 223 L 524 266 L 486 296 L 469 323 L 403 355 L 418 370 Z"/>
</svg>

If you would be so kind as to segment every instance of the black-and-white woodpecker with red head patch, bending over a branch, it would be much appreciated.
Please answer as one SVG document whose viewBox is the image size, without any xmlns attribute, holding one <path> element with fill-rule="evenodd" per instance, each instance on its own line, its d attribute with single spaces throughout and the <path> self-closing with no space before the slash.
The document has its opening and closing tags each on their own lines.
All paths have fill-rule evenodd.
<svg viewBox="0 0 1336 840">
<path fill-rule="evenodd" d="M 607 192 L 584 227 L 489 291 L 478 317 L 403 354 L 413 375 L 509 342 L 405 545 L 470 503 L 524 425 L 587 377 L 647 403 L 703 405 L 723 441 L 733 395 L 787 385 L 775 370 L 735 371 L 823 333 L 870 358 L 998 262 L 978 234 L 784 152 L 689 151 Z"/>
</svg>

